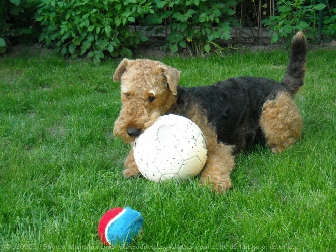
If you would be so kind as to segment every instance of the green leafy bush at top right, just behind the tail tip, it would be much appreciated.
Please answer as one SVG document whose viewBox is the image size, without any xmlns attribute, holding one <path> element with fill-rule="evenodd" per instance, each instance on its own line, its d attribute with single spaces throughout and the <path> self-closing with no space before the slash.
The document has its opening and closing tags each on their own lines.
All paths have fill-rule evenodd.
<svg viewBox="0 0 336 252">
<path fill-rule="evenodd" d="M 293 35 L 300 30 L 304 30 L 308 38 L 317 34 L 318 11 L 324 9 L 326 5 L 307 5 L 305 0 L 281 0 L 276 4 L 278 15 L 262 20 L 262 23 L 270 29 L 271 43 L 282 38 L 288 46 Z"/>
</svg>

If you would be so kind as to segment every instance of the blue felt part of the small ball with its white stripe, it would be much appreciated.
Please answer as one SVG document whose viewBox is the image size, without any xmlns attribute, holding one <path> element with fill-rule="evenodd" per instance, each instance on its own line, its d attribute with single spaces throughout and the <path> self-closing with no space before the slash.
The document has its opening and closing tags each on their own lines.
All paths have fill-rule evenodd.
<svg viewBox="0 0 336 252">
<path fill-rule="evenodd" d="M 126 211 L 125 211 L 126 210 Z M 144 218 L 138 211 L 126 207 L 117 215 L 114 221 L 110 221 L 105 229 L 106 240 L 111 245 L 131 243 L 143 227 Z"/>
</svg>

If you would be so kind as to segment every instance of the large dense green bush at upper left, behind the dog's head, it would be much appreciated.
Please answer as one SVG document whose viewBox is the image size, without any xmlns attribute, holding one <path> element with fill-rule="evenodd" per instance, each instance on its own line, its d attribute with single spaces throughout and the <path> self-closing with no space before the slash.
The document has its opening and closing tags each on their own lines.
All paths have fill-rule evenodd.
<svg viewBox="0 0 336 252">
<path fill-rule="evenodd" d="M 42 0 L 36 20 L 44 26 L 41 42 L 62 55 L 75 58 L 87 53 L 98 62 L 106 52 L 130 57 L 129 48 L 147 37 L 129 25 L 153 12 L 146 0 Z"/>
</svg>

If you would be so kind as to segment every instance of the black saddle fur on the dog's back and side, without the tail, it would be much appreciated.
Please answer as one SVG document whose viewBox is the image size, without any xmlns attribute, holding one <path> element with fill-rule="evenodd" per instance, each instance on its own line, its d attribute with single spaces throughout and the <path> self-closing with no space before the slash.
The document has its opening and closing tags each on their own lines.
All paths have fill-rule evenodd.
<svg viewBox="0 0 336 252">
<path fill-rule="evenodd" d="M 235 145 L 235 151 L 240 152 L 264 140 L 259 127 L 261 109 L 280 90 L 286 91 L 274 80 L 241 77 L 211 86 L 178 87 L 177 105 L 183 115 L 188 105 L 197 103 L 215 127 L 218 140 Z"/>
</svg>

